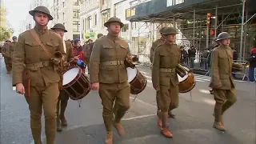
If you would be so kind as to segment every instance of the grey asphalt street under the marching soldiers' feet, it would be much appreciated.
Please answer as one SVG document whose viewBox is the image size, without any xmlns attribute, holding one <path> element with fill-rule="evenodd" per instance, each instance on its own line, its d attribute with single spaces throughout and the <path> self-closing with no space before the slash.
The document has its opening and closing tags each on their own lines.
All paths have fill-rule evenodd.
<svg viewBox="0 0 256 144">
<path fill-rule="evenodd" d="M 1 66 L 1 144 L 30 144 L 30 113 L 25 98 L 12 90 L 11 75 L 6 74 L 3 59 Z M 256 83 L 236 82 L 238 102 L 224 116 L 226 132 L 212 127 L 214 99 L 209 94 L 210 78 L 196 75 L 197 85 L 191 94 L 180 95 L 180 105 L 175 119 L 170 119 L 174 138 L 164 138 L 157 126 L 155 91 L 150 78 L 150 68 L 138 66 L 146 75 L 146 89 L 130 95 L 130 110 L 122 120 L 126 135 L 120 138 L 114 130 L 115 144 L 255 144 Z M 69 126 L 58 133 L 56 144 L 102 144 L 105 128 L 102 122 L 102 105 L 96 91 L 91 91 L 78 102 L 69 102 L 66 110 Z M 43 117 L 42 117 L 43 120 Z M 42 121 L 43 122 L 43 121 Z M 43 126 L 44 127 L 44 126 Z M 45 139 L 44 131 L 42 139 Z"/>
</svg>

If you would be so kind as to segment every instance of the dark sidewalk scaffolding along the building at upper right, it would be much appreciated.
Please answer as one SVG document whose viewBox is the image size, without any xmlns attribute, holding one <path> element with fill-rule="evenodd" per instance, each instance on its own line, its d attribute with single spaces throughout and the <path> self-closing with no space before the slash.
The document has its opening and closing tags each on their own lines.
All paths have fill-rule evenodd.
<svg viewBox="0 0 256 144">
<path fill-rule="evenodd" d="M 133 10 L 134 2 L 137 2 L 135 5 L 140 4 L 137 0 L 130 2 L 130 10 Z M 206 26 L 207 13 L 214 14 L 210 26 Z M 150 62 L 150 47 L 160 36 L 158 30 L 162 26 L 174 26 L 180 32 L 177 43 L 186 49 L 196 47 L 198 57 L 199 53 L 211 47 L 212 40 L 220 32 L 229 32 L 232 36 L 230 46 L 238 51 L 240 60 L 245 60 L 256 37 L 256 24 L 253 24 L 255 15 L 246 10 L 245 1 L 224 4 L 216 0 L 211 1 L 208 6 L 189 6 L 130 18 L 131 52 L 138 54 L 141 62 Z"/>
</svg>

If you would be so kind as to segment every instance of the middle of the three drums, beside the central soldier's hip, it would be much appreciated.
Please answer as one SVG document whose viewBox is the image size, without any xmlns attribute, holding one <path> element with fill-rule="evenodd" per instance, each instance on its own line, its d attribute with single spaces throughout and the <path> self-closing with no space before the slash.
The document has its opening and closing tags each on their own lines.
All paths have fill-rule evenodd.
<svg viewBox="0 0 256 144">
<path fill-rule="evenodd" d="M 128 82 L 130 83 L 130 94 L 139 94 L 146 88 L 146 77 L 142 75 L 136 68 L 126 68 L 128 74 Z"/>
</svg>

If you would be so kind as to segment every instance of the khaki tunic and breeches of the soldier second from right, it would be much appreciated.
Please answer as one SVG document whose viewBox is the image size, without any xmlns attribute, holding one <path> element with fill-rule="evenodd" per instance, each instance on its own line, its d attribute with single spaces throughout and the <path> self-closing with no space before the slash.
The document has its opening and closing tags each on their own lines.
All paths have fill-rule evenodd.
<svg viewBox="0 0 256 144">
<path fill-rule="evenodd" d="M 152 67 L 152 82 L 154 87 L 160 88 L 160 107 L 167 112 L 178 107 L 178 76 L 176 66 L 180 62 L 181 50 L 176 44 L 164 43 L 154 52 Z M 170 103 L 171 102 L 171 103 Z"/>
</svg>

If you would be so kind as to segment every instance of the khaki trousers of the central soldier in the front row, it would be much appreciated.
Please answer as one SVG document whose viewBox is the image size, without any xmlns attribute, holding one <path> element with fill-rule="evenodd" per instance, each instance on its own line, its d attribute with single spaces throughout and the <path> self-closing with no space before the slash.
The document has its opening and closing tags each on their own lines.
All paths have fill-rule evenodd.
<svg viewBox="0 0 256 144">
<path fill-rule="evenodd" d="M 115 122 L 120 122 L 126 111 L 130 108 L 130 83 L 100 83 L 98 90 L 102 98 L 102 117 L 106 126 L 106 131 L 112 131 L 113 105 L 116 110 Z"/>
</svg>

